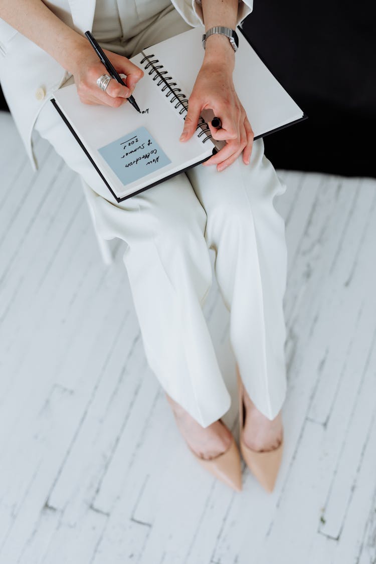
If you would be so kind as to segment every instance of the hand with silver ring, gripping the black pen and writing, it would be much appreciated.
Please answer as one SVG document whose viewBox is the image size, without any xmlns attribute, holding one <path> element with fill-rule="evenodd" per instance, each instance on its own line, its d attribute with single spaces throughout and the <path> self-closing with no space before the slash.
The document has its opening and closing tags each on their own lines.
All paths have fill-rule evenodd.
<svg viewBox="0 0 376 564">
<path fill-rule="evenodd" d="M 106 49 L 103 51 L 117 72 L 120 75 L 126 75 L 124 78 L 126 86 L 112 78 L 105 92 L 99 88 L 96 81 L 102 74 L 108 74 L 108 71 L 89 44 L 81 56 L 76 58 L 78 62 L 73 64 L 70 72 L 73 74 L 78 96 L 83 104 L 103 104 L 118 108 L 132 94 L 136 83 L 144 76 L 144 72 L 126 57 Z"/>
</svg>

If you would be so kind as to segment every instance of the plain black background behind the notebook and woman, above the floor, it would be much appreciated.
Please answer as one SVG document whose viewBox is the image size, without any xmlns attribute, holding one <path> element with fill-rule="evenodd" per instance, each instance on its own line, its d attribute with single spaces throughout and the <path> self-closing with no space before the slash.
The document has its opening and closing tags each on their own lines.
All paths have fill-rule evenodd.
<svg viewBox="0 0 376 564">
<path fill-rule="evenodd" d="M 276 168 L 376 177 L 375 6 L 254 0 L 244 33 L 308 115 L 264 138 Z"/>
</svg>

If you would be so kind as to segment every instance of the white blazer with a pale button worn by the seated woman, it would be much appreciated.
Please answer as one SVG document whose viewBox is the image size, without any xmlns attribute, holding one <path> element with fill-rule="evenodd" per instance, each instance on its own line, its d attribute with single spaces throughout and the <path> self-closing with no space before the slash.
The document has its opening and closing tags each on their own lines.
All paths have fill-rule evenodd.
<svg viewBox="0 0 376 564">
<path fill-rule="evenodd" d="M 204 23 L 200 0 L 171 0 L 192 27 Z M 83 34 L 92 29 L 95 0 L 52 0 L 48 7 Z M 253 0 L 239 0 L 237 24 L 252 10 Z M 0 83 L 33 169 L 38 168 L 32 132 L 38 113 L 68 73 L 46 51 L 0 19 Z"/>
</svg>

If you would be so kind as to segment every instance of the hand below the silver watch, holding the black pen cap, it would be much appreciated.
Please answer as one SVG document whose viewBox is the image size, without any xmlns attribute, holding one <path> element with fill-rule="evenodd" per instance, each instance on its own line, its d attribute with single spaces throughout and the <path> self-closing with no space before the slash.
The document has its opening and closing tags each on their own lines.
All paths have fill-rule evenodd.
<svg viewBox="0 0 376 564">
<path fill-rule="evenodd" d="M 223 63 L 202 64 L 194 82 L 188 100 L 188 112 L 185 117 L 181 141 L 192 137 L 203 109 L 211 108 L 214 115 L 222 121 L 222 127 L 216 129 L 209 122 L 210 133 L 216 140 L 225 140 L 226 145 L 216 155 L 204 162 L 204 165 L 217 165 L 223 170 L 231 165 L 243 152 L 243 161 L 249 164 L 253 146 L 253 130 L 246 116 L 232 82 L 232 72 Z M 185 133 L 185 136 L 183 137 Z"/>
</svg>

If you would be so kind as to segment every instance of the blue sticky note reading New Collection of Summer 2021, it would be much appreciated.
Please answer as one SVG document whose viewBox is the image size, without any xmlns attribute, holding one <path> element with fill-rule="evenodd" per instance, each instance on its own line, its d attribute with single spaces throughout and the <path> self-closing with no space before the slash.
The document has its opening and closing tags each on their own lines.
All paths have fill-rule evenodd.
<svg viewBox="0 0 376 564">
<path fill-rule="evenodd" d="M 145 127 L 98 149 L 123 184 L 130 184 L 170 164 L 170 159 Z"/>
</svg>

